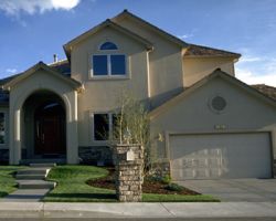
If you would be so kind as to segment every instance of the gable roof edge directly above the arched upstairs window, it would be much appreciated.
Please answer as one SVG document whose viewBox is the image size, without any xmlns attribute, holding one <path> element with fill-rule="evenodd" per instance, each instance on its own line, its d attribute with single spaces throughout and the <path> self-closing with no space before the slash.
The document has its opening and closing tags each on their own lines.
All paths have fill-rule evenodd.
<svg viewBox="0 0 276 221">
<path fill-rule="evenodd" d="M 63 45 L 64 51 L 66 53 L 67 59 L 70 60 L 71 57 L 71 50 L 72 46 L 75 45 L 76 43 L 84 41 L 86 38 L 95 34 L 96 32 L 103 30 L 106 27 L 110 27 L 128 36 L 130 36 L 131 39 L 136 40 L 137 42 L 139 42 L 140 44 L 145 45 L 147 50 L 152 50 L 153 45 L 151 42 L 149 42 L 148 40 L 144 39 L 142 36 L 131 32 L 128 29 L 125 29 L 123 27 L 120 27 L 119 24 L 113 22 L 110 19 L 107 19 L 106 21 L 102 22 L 100 24 L 92 28 L 91 30 L 84 32 L 83 34 L 76 36 L 75 39 L 71 40 L 70 42 L 67 42 L 66 44 Z"/>
</svg>

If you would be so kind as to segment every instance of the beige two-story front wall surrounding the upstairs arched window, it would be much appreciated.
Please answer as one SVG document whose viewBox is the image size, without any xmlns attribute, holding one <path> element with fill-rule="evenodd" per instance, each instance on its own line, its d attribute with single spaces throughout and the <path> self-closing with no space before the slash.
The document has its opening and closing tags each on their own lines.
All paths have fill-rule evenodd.
<svg viewBox="0 0 276 221">
<path fill-rule="evenodd" d="M 91 57 L 100 54 L 98 46 L 112 41 L 118 51 L 110 53 L 126 54 L 128 75 L 119 77 L 89 77 Z M 107 52 L 108 53 L 108 52 Z M 119 98 L 128 94 L 141 101 L 148 98 L 148 62 L 147 51 L 120 32 L 106 28 L 72 50 L 72 77 L 84 84 L 84 92 L 78 95 L 78 146 L 106 146 L 104 141 L 93 140 L 93 113 L 115 112 L 119 107 Z"/>
</svg>

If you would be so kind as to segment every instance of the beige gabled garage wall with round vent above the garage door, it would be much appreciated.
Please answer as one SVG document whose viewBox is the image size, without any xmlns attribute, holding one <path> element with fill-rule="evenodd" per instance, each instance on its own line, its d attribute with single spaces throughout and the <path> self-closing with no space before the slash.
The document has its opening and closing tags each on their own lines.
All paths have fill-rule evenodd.
<svg viewBox="0 0 276 221">
<path fill-rule="evenodd" d="M 214 95 L 223 96 L 227 106 L 216 114 L 209 107 Z M 225 129 L 215 129 L 224 125 Z M 276 112 L 270 105 L 234 86 L 221 77 L 213 78 L 202 87 L 187 95 L 173 106 L 151 119 L 152 148 L 158 158 L 168 160 L 170 133 L 238 133 L 270 131 L 274 158 L 276 159 Z M 159 135 L 160 134 L 160 135 Z M 158 139 L 158 137 L 162 139 Z"/>
</svg>

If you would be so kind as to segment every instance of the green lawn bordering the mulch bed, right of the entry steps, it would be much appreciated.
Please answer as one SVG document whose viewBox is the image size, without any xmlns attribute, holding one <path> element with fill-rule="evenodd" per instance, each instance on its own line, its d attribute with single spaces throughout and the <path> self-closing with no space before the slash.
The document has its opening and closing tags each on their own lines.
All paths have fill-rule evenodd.
<svg viewBox="0 0 276 221">
<path fill-rule="evenodd" d="M 49 192 L 46 202 L 117 202 L 114 190 L 94 188 L 86 185 L 89 179 L 105 177 L 108 171 L 93 166 L 57 166 L 50 171 L 49 180 L 57 187 Z M 142 194 L 144 202 L 214 202 L 211 196 Z"/>
</svg>

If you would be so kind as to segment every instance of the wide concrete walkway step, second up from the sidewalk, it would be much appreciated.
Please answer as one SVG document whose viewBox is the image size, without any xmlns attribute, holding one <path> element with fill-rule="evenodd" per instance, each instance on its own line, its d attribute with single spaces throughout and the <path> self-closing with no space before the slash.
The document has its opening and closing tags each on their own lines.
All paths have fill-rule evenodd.
<svg viewBox="0 0 276 221">
<path fill-rule="evenodd" d="M 44 180 L 18 180 L 19 189 L 53 189 L 55 182 Z"/>
</svg>

